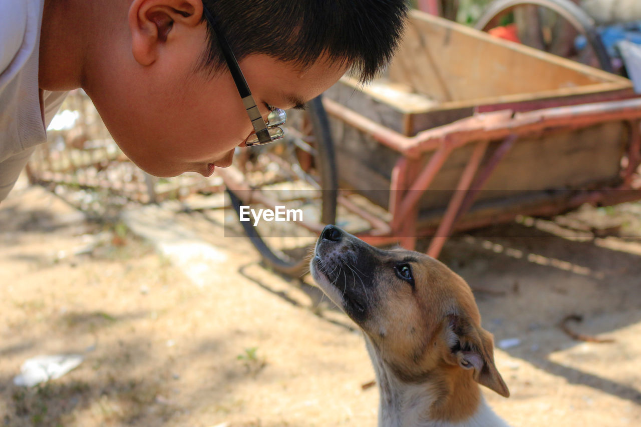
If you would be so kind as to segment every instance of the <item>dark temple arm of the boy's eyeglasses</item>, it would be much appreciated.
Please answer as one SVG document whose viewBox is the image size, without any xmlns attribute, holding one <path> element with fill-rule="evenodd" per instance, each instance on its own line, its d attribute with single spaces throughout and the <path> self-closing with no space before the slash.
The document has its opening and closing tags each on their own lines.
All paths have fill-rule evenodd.
<svg viewBox="0 0 641 427">
<path fill-rule="evenodd" d="M 251 90 L 249 90 L 245 76 L 243 76 L 242 71 L 240 71 L 236 56 L 233 51 L 231 51 L 231 46 L 229 46 L 227 39 L 222 35 L 212 13 L 209 12 L 204 5 L 203 13 L 205 19 L 210 23 L 210 26 L 212 26 L 213 32 L 216 34 L 218 44 L 221 46 L 222 56 L 224 56 L 225 62 L 227 62 L 229 72 L 231 72 L 231 77 L 238 88 L 238 93 L 240 97 L 242 97 L 242 103 L 245 106 L 245 110 L 247 110 L 247 115 L 249 115 L 252 126 L 254 126 L 258 140 L 260 140 L 260 142 L 270 142 L 272 138 L 269 136 L 269 131 L 267 130 L 263 116 L 260 114 L 258 106 L 256 106 L 256 101 L 254 101 L 254 97 L 251 96 Z"/>
</svg>

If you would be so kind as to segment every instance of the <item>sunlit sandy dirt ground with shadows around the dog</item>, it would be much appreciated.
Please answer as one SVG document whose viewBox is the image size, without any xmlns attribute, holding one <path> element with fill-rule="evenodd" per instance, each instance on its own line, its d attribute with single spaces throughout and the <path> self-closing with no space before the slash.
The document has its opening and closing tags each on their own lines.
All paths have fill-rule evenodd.
<svg viewBox="0 0 641 427">
<path fill-rule="evenodd" d="M 349 319 L 263 269 L 207 213 L 171 216 L 228 255 L 210 285 L 42 188 L 0 205 L 0 424 L 376 425 L 378 391 L 363 388 L 374 373 Z M 474 289 L 485 328 L 497 343 L 518 339 L 495 351 L 512 396 L 484 390 L 510 424 L 641 425 L 639 235 L 641 205 L 626 204 L 446 244 L 442 260 Z M 583 316 L 572 330 L 615 341 L 573 340 L 558 327 L 570 314 Z M 13 385 L 24 360 L 58 353 L 85 360 Z"/>
</svg>

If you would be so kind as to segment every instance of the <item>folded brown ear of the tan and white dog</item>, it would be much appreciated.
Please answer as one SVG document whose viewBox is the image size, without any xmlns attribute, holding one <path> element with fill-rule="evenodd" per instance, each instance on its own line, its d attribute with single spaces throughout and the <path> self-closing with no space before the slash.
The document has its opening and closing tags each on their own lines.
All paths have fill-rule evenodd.
<svg viewBox="0 0 641 427">
<path fill-rule="evenodd" d="M 508 398 L 510 390 L 494 365 L 492 334 L 460 315 L 447 316 L 445 324 L 449 346 L 446 361 L 463 369 L 473 369 L 476 382 Z"/>
</svg>

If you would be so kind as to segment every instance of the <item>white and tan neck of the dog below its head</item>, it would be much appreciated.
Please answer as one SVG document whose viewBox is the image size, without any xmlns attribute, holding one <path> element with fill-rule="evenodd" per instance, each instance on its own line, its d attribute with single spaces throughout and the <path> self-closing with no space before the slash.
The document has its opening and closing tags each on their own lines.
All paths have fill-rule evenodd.
<svg viewBox="0 0 641 427">
<path fill-rule="evenodd" d="M 464 371 L 407 383 L 382 360 L 367 335 L 365 341 L 380 394 L 378 427 L 508 427 Z"/>
</svg>

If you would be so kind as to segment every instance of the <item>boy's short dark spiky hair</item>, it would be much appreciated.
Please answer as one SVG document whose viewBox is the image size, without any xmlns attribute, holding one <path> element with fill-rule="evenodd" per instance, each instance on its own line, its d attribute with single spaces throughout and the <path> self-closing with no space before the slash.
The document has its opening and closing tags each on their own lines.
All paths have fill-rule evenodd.
<svg viewBox="0 0 641 427">
<path fill-rule="evenodd" d="M 322 54 L 348 65 L 361 81 L 374 78 L 394 56 L 403 35 L 407 0 L 203 0 L 237 60 L 267 54 L 306 67 Z M 204 18 L 203 18 L 204 20 Z M 208 26 L 199 67 L 225 67 Z"/>
</svg>

